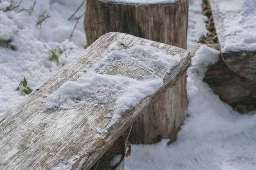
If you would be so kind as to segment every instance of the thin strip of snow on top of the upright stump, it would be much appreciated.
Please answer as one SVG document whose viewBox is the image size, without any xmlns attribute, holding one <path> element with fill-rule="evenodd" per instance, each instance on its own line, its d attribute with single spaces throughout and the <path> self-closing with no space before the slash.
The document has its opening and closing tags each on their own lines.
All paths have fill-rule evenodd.
<svg viewBox="0 0 256 170">
<path fill-rule="evenodd" d="M 125 4 L 172 4 L 180 0 L 105 0 L 105 1 L 125 3 Z"/>
</svg>

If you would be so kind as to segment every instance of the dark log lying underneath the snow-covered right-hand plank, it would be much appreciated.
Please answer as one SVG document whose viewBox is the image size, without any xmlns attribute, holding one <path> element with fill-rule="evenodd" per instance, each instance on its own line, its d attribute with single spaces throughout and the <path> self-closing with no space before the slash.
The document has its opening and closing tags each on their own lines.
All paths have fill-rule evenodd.
<svg viewBox="0 0 256 170">
<path fill-rule="evenodd" d="M 207 45 L 220 51 L 218 44 Z M 188 46 L 191 57 L 200 45 Z M 256 80 L 247 79 L 232 71 L 220 57 L 220 60 L 210 66 L 203 79 L 209 84 L 213 93 L 218 95 L 223 102 L 226 102 L 240 113 L 254 110 L 256 107 Z"/>
</svg>

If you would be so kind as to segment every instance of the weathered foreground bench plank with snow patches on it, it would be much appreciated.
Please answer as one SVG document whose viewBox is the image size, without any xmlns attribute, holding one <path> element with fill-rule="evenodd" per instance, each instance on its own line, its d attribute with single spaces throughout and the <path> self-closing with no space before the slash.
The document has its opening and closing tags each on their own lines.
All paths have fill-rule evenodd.
<svg viewBox="0 0 256 170">
<path fill-rule="evenodd" d="M 136 62 L 116 61 L 120 53 L 133 53 Z M 161 61 L 168 55 L 172 57 L 165 59 L 170 60 L 166 65 Z M 153 64 L 148 62 L 154 57 Z M 89 170 L 190 63 L 189 52 L 175 46 L 125 33 L 101 36 L 0 117 L 0 169 Z M 102 86 L 114 90 L 101 91 Z M 128 93 L 133 88 L 136 93 Z M 127 96 L 115 101 L 119 93 Z"/>
</svg>

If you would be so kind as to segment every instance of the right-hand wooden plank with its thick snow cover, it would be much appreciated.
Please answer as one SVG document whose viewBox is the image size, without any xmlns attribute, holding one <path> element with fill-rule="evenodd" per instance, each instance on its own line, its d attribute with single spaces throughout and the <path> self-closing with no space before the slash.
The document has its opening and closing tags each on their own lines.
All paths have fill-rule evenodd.
<svg viewBox="0 0 256 170">
<path fill-rule="evenodd" d="M 256 1 L 210 0 L 213 20 L 227 66 L 256 79 Z"/>
</svg>

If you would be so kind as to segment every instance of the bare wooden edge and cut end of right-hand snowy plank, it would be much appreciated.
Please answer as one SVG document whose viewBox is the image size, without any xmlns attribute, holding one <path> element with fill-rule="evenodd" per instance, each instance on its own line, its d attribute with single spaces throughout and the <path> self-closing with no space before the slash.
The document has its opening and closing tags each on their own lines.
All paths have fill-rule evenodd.
<svg viewBox="0 0 256 170">
<path fill-rule="evenodd" d="M 238 75 L 247 79 L 256 80 L 256 51 L 224 51 L 222 49 L 223 43 L 225 42 L 223 21 L 216 3 L 218 3 L 216 0 L 210 0 L 211 11 L 218 40 L 220 42 L 223 61 Z"/>
</svg>

